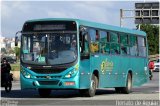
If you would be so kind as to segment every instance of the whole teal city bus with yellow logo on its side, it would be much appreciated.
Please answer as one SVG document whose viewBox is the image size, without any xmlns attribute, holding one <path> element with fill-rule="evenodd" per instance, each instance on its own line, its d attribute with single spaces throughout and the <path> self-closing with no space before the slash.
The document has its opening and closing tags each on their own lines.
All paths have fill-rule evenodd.
<svg viewBox="0 0 160 106">
<path fill-rule="evenodd" d="M 20 32 L 21 89 L 37 89 L 41 97 L 62 89 L 89 97 L 100 88 L 128 94 L 148 81 L 143 31 L 47 18 L 26 21 Z"/>
</svg>

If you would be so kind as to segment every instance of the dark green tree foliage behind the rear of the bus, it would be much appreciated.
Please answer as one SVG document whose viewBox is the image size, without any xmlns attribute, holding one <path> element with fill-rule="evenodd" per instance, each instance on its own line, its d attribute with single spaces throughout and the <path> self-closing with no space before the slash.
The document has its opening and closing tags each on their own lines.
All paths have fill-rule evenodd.
<svg viewBox="0 0 160 106">
<path fill-rule="evenodd" d="M 159 53 L 159 26 L 142 24 L 141 30 L 147 33 L 149 55 Z"/>
</svg>

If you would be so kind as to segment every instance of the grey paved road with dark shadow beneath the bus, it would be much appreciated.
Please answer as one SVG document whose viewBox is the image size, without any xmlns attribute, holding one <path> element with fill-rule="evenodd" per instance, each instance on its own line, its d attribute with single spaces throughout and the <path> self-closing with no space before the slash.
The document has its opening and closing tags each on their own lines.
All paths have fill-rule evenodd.
<svg viewBox="0 0 160 106">
<path fill-rule="evenodd" d="M 20 83 L 16 81 L 10 93 L 6 93 L 4 88 L 1 88 L 2 105 L 7 103 L 18 105 L 106 105 L 106 103 L 120 105 L 121 100 L 128 100 L 127 103 L 130 103 L 131 100 L 149 100 L 147 103 L 150 103 L 150 100 L 159 100 L 159 72 L 154 72 L 153 76 L 152 81 L 141 87 L 133 88 L 131 94 L 117 94 L 114 89 L 99 89 L 92 98 L 81 97 L 79 92 L 74 90 L 53 90 L 49 98 L 40 98 L 36 90 L 20 90 Z M 134 105 L 137 103 L 132 102 Z"/>
</svg>

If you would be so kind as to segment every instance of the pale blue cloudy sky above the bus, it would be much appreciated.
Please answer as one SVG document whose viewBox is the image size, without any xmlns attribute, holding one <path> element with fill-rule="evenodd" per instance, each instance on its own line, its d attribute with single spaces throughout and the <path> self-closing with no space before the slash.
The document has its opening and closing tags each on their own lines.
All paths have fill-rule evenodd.
<svg viewBox="0 0 160 106">
<path fill-rule="evenodd" d="M 148 0 L 138 0 L 138 2 L 144 1 Z M 2 0 L 0 35 L 7 38 L 14 37 L 17 31 L 22 30 L 25 21 L 40 18 L 78 18 L 120 26 L 120 9 L 134 9 L 135 2 L 137 1 Z M 135 28 L 134 19 L 124 19 L 123 24 L 126 28 Z"/>
</svg>

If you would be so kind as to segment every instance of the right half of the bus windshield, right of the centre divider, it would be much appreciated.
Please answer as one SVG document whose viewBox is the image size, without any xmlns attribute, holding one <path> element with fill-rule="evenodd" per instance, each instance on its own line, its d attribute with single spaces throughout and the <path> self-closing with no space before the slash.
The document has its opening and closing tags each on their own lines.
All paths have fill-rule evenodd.
<svg viewBox="0 0 160 106">
<path fill-rule="evenodd" d="M 77 58 L 76 34 L 51 34 L 48 48 L 49 65 L 71 63 Z"/>
</svg>

